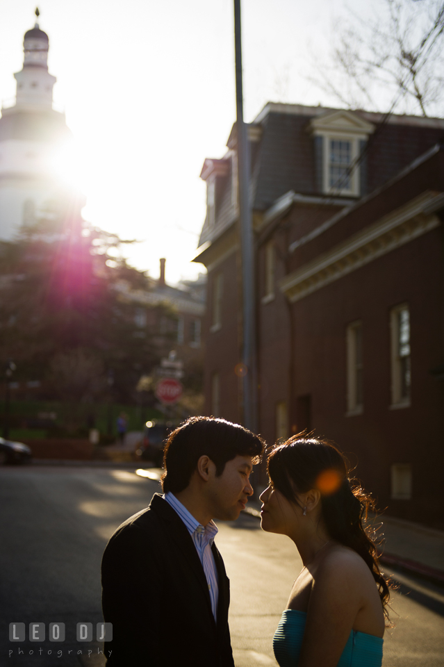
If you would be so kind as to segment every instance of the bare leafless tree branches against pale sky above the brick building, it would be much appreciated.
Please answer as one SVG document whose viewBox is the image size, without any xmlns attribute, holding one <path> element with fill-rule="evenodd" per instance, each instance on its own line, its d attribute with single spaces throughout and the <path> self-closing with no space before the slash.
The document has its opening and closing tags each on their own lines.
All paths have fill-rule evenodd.
<svg viewBox="0 0 444 667">
<path fill-rule="evenodd" d="M 379 0 L 365 21 L 337 20 L 328 63 L 309 79 L 349 108 L 442 113 L 443 0 Z"/>
</svg>

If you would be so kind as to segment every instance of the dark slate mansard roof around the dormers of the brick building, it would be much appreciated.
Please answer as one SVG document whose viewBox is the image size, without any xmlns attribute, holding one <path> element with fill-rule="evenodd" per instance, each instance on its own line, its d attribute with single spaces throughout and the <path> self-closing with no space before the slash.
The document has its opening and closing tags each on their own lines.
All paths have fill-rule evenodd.
<svg viewBox="0 0 444 667">
<path fill-rule="evenodd" d="M 340 110 L 270 104 L 256 118 L 252 125 L 260 127 L 261 132 L 254 133 L 250 140 L 250 192 L 254 211 L 266 211 L 279 197 L 291 191 L 328 199 L 320 191 L 316 179 L 315 137 L 310 124 L 321 114 L 335 111 Z M 384 122 L 384 115 L 381 114 L 359 110 L 352 113 L 375 127 L 361 167 L 363 195 L 374 192 L 430 147 L 444 141 L 443 119 L 397 115 L 388 117 Z M 232 131 L 229 144 L 235 140 Z M 229 155 L 223 160 L 231 163 Z M 236 219 L 231 187 L 229 172 L 225 176 L 217 176 L 215 226 L 210 230 L 206 218 L 199 246 L 207 240 L 215 240 Z M 340 197 L 336 199 L 340 201 Z M 344 198 L 345 204 L 347 201 Z"/>
</svg>

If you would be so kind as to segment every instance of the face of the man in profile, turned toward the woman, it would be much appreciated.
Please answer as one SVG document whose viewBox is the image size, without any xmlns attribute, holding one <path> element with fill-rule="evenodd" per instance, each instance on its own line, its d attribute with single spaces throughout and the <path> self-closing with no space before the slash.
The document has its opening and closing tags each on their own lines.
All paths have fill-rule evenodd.
<svg viewBox="0 0 444 667">
<path fill-rule="evenodd" d="M 215 465 L 211 461 L 211 479 L 206 488 L 208 507 L 215 519 L 232 521 L 240 510 L 245 509 L 249 495 L 253 494 L 249 476 L 253 469 L 251 456 L 236 456 L 225 463 L 220 477 L 215 475 Z"/>
</svg>

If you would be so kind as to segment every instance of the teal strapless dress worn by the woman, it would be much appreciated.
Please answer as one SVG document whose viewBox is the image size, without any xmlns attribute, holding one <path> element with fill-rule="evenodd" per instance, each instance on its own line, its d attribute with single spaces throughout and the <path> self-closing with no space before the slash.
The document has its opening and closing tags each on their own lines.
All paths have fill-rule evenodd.
<svg viewBox="0 0 444 667">
<path fill-rule="evenodd" d="M 297 667 L 305 621 L 305 611 L 283 611 L 273 640 L 274 655 L 280 667 Z M 380 637 L 352 630 L 337 667 L 381 667 L 383 643 Z"/>
</svg>

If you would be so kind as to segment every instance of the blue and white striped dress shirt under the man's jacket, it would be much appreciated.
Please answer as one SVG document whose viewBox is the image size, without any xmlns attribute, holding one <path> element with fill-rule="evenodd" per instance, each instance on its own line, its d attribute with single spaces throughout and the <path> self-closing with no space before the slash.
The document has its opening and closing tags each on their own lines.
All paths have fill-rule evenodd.
<svg viewBox="0 0 444 667">
<path fill-rule="evenodd" d="M 211 545 L 217 535 L 217 526 L 214 521 L 210 521 L 204 527 L 199 524 L 192 514 L 183 506 L 176 496 L 168 491 L 163 496 L 171 507 L 179 514 L 181 520 L 186 525 L 191 539 L 196 547 L 197 554 L 204 568 L 208 591 L 210 593 L 211 611 L 214 619 L 217 621 L 217 600 L 219 599 L 219 586 L 217 584 L 217 570 L 214 561 Z"/>
</svg>

